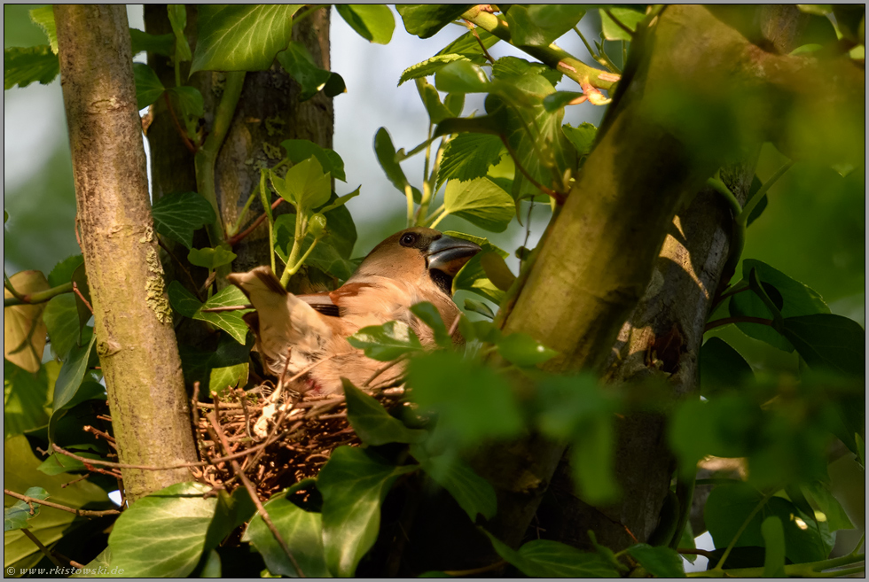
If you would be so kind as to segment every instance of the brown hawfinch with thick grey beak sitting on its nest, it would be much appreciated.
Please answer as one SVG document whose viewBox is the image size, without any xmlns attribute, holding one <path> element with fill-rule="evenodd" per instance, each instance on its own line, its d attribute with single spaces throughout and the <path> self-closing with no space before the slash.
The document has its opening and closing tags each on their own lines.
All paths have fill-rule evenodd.
<svg viewBox="0 0 869 582">
<path fill-rule="evenodd" d="M 449 329 L 459 314 L 450 296 L 452 279 L 480 250 L 466 240 L 416 227 L 374 247 L 335 291 L 294 295 L 268 267 L 233 273 L 226 280 L 239 287 L 256 310 L 244 319 L 254 331 L 264 368 L 280 377 L 286 366 L 287 379 L 301 374 L 292 389 L 328 394 L 341 392 L 341 376 L 359 386 L 383 365 L 348 343 L 348 336 L 364 327 L 405 322 L 423 345 L 434 345 L 432 330 L 411 313 L 411 306 L 430 301 Z M 458 331 L 453 341 L 461 341 Z M 400 374 L 396 366 L 389 377 Z"/>
</svg>

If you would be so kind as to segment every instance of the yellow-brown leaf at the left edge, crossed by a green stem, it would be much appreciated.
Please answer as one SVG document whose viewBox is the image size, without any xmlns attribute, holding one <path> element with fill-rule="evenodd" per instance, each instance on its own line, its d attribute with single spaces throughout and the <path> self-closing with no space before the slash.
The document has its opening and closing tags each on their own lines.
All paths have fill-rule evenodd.
<svg viewBox="0 0 869 582">
<path fill-rule="evenodd" d="M 12 288 L 21 295 L 49 289 L 41 271 L 20 271 L 9 277 Z M 12 293 L 4 287 L 4 299 Z M 43 322 L 45 304 L 17 305 L 4 308 L 3 355 L 8 361 L 28 372 L 36 372 L 43 360 L 45 334 Z"/>
</svg>

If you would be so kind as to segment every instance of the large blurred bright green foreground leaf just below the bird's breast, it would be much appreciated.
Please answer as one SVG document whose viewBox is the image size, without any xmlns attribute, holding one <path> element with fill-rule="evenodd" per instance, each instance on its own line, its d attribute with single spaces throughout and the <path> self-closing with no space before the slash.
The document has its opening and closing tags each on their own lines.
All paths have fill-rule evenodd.
<svg viewBox="0 0 869 582">
<path fill-rule="evenodd" d="M 521 431 L 519 403 L 505 377 L 457 353 L 411 359 L 407 383 L 412 399 L 423 412 L 439 415 L 438 429 L 458 447 L 485 438 L 511 438 Z"/>
</svg>

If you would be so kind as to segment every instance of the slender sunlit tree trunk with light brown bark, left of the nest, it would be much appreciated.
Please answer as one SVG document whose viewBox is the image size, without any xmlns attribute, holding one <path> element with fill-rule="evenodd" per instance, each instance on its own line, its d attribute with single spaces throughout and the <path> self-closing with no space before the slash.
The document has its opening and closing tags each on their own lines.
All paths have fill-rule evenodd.
<svg viewBox="0 0 869 582">
<path fill-rule="evenodd" d="M 196 461 L 148 196 L 127 12 L 54 7 L 82 253 L 120 461 Z M 123 469 L 129 501 L 190 478 Z"/>
</svg>

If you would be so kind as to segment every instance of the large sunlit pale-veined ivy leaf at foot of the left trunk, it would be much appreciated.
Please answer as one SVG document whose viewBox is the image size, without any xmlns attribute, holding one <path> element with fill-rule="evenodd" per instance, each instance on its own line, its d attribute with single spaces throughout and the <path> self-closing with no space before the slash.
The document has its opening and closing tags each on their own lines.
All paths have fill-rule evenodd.
<svg viewBox="0 0 869 582">
<path fill-rule="evenodd" d="M 200 483 L 178 483 L 129 506 L 109 535 L 113 568 L 144 578 L 183 578 L 200 561 L 217 499 Z"/>
</svg>

